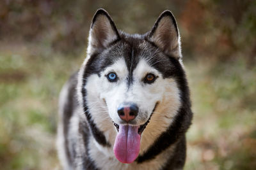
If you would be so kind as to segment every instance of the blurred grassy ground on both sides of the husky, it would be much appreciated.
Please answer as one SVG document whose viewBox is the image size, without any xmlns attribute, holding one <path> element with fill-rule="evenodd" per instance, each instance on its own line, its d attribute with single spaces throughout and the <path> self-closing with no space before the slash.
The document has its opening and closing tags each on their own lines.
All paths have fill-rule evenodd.
<svg viewBox="0 0 256 170">
<path fill-rule="evenodd" d="M 58 94 L 83 57 L 17 46 L 0 50 L 0 169 L 52 169 Z M 184 60 L 195 113 L 185 169 L 255 169 L 256 67 Z"/>
</svg>

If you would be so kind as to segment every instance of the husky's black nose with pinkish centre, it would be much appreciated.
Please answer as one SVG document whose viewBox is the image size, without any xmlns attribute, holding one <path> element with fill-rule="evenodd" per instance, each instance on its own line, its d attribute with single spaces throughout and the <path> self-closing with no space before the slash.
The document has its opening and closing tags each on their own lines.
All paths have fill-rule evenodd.
<svg viewBox="0 0 256 170">
<path fill-rule="evenodd" d="M 134 120 L 137 117 L 139 108 L 137 104 L 134 103 L 123 103 L 117 109 L 119 117 L 125 122 Z"/>
</svg>

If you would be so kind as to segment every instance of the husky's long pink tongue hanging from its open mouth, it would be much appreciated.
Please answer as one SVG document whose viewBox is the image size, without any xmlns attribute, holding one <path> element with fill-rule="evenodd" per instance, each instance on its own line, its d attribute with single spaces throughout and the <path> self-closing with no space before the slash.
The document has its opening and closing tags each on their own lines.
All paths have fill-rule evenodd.
<svg viewBox="0 0 256 170">
<path fill-rule="evenodd" d="M 116 159 L 125 164 L 132 163 L 140 152 L 139 126 L 119 125 L 116 135 L 114 153 Z"/>
</svg>

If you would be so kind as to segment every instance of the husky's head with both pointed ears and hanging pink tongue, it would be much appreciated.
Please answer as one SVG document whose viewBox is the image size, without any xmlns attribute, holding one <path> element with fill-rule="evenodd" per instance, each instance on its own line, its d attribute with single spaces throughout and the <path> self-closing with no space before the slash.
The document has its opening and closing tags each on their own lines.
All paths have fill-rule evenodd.
<svg viewBox="0 0 256 170">
<path fill-rule="evenodd" d="M 114 152 L 120 162 L 138 157 L 150 118 L 167 128 L 179 110 L 181 57 L 179 31 L 170 11 L 143 35 L 118 31 L 105 10 L 95 13 L 78 93 L 88 121 L 94 121 L 93 131 L 108 131 L 102 124 L 109 120 L 115 125 Z"/>
</svg>

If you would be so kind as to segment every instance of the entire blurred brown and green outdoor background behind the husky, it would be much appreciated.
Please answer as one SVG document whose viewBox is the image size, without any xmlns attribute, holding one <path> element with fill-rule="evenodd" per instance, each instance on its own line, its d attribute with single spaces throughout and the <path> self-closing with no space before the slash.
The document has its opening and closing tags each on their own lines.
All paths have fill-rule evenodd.
<svg viewBox="0 0 256 170">
<path fill-rule="evenodd" d="M 98 8 L 150 30 L 172 10 L 193 102 L 185 169 L 256 169 L 256 1 L 1 0 L 0 169 L 58 169 L 58 95 Z"/>
</svg>

